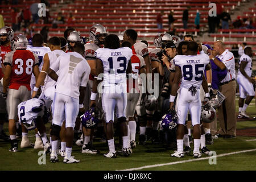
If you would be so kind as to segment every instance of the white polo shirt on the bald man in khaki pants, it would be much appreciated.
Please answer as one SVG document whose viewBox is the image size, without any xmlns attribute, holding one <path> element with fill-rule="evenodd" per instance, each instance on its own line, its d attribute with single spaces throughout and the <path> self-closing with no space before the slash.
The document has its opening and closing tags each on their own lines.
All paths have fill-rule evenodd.
<svg viewBox="0 0 256 182">
<path fill-rule="evenodd" d="M 222 63 L 225 64 L 226 69 L 228 70 L 226 77 L 221 82 L 230 81 L 233 78 L 236 79 L 235 59 L 233 53 L 226 49 L 220 56 L 218 55 L 217 57 L 222 60 Z"/>
</svg>

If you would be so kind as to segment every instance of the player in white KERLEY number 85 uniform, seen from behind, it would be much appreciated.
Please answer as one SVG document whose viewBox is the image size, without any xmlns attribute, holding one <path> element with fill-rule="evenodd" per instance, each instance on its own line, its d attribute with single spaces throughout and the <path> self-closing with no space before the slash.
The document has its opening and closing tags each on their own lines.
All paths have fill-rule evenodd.
<svg viewBox="0 0 256 182">
<path fill-rule="evenodd" d="M 194 136 L 194 158 L 200 158 L 200 115 L 201 115 L 201 101 L 200 101 L 200 85 L 203 81 L 204 69 L 209 69 L 209 56 L 202 54 L 197 55 L 198 44 L 196 42 L 189 42 L 187 47 L 188 56 L 175 56 L 175 78 L 172 84 L 170 109 L 174 109 L 174 99 L 180 85 L 180 98 L 177 103 L 177 151 L 171 156 L 181 158 L 184 156 L 183 152 L 183 137 L 184 124 L 187 117 L 188 110 L 192 115 L 193 136 Z M 206 80 L 205 80 L 205 83 Z M 205 93 L 208 93 L 207 86 L 203 84 Z M 207 84 L 206 84 L 207 85 Z M 205 94 L 209 97 L 209 93 Z M 204 102 L 209 102 L 209 98 L 205 98 Z"/>
</svg>

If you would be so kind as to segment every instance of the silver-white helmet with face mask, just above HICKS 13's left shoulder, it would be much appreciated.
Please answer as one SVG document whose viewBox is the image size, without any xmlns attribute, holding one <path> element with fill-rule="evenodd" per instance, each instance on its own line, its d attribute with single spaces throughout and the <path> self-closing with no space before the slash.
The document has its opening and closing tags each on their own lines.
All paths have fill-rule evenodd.
<svg viewBox="0 0 256 182">
<path fill-rule="evenodd" d="M 89 38 L 98 46 L 104 44 L 107 35 L 106 28 L 101 24 L 97 23 L 90 27 Z"/>
</svg>

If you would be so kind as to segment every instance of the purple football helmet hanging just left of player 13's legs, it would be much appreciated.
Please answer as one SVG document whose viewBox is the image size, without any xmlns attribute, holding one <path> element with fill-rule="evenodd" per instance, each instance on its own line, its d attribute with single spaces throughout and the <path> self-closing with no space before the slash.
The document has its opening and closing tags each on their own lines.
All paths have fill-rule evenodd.
<svg viewBox="0 0 256 182">
<path fill-rule="evenodd" d="M 84 114 L 80 117 L 82 126 L 84 126 L 86 129 L 92 129 L 98 125 L 98 122 L 100 121 L 98 119 L 98 110 L 96 107 L 92 107 L 90 110 L 86 111 Z"/>
</svg>

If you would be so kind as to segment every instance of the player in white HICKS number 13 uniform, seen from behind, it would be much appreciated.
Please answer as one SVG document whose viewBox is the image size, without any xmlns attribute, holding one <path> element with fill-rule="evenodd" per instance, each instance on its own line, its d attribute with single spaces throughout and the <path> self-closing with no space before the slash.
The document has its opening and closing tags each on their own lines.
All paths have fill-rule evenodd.
<svg viewBox="0 0 256 182">
<path fill-rule="evenodd" d="M 102 107 L 105 114 L 106 137 L 108 139 L 109 153 L 104 154 L 107 158 L 116 158 L 114 146 L 114 110 L 116 109 L 117 121 L 121 126 L 123 139 L 123 155 L 129 156 L 127 121 L 126 121 L 126 74 L 132 72 L 131 56 L 133 52 L 128 47 L 120 48 L 119 38 L 117 35 L 110 34 L 106 36 L 105 48 L 99 48 L 95 52 L 96 56 L 96 77 L 94 77 L 93 91 L 91 100 L 95 101 L 98 79 L 102 78 L 103 73 L 104 91 L 102 94 Z"/>
</svg>

